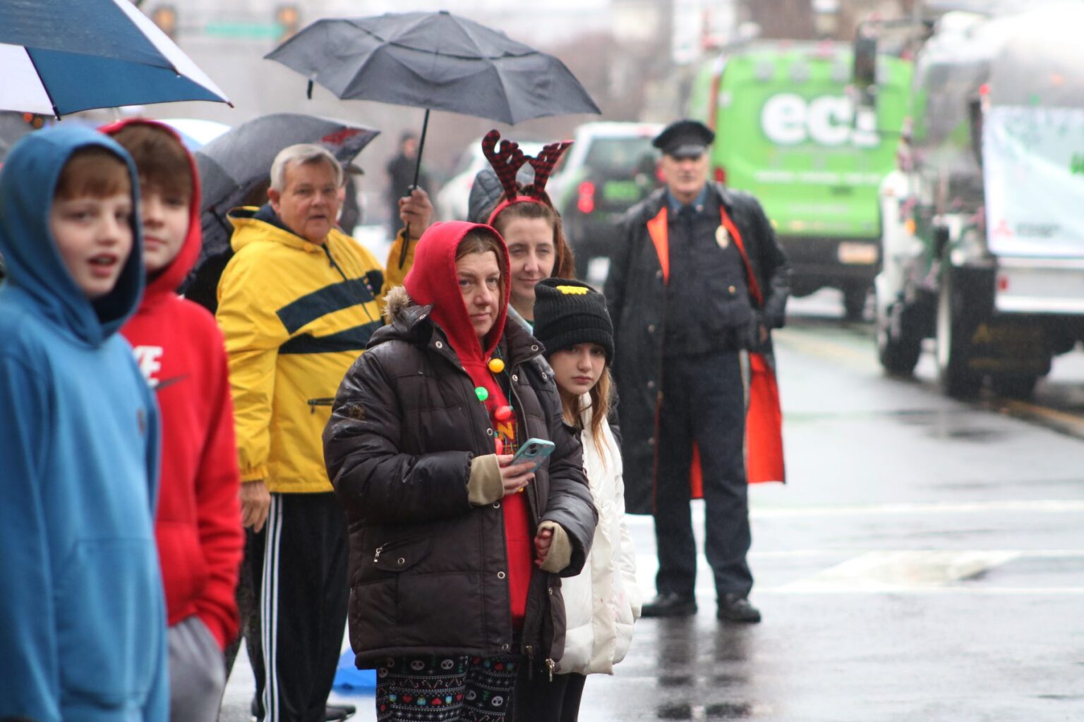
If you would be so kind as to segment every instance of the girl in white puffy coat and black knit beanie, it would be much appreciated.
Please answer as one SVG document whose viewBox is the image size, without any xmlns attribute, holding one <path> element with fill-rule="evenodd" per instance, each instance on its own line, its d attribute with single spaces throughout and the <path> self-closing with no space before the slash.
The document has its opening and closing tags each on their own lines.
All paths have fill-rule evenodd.
<svg viewBox="0 0 1084 722">
<path fill-rule="evenodd" d="M 586 674 L 614 673 L 640 617 L 636 554 L 624 521 L 621 451 L 607 421 L 614 331 L 605 298 L 586 284 L 535 286 L 534 337 L 546 349 L 565 421 L 580 429 L 598 526 L 583 572 L 562 580 L 565 651 L 554 677 L 520 680 L 516 722 L 575 722 Z"/>
</svg>

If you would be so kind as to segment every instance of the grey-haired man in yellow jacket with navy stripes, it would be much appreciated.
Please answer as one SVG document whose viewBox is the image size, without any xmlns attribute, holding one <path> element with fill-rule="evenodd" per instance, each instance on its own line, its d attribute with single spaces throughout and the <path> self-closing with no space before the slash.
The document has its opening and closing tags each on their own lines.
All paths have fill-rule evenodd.
<svg viewBox="0 0 1084 722">
<path fill-rule="evenodd" d="M 235 209 L 234 255 L 218 287 L 233 390 L 242 517 L 259 605 L 253 660 L 258 720 L 323 720 L 348 603 L 347 528 L 321 434 L 339 382 L 383 324 L 389 263 L 335 226 L 343 168 L 294 145 L 271 167 L 270 204 Z M 404 201 L 411 236 L 429 223 L 424 192 Z M 402 234 L 392 246 L 399 258 Z M 412 254 L 411 254 L 412 255 Z M 408 259 L 412 260 L 412 259 Z M 251 648 L 250 647 L 250 648 Z"/>
</svg>

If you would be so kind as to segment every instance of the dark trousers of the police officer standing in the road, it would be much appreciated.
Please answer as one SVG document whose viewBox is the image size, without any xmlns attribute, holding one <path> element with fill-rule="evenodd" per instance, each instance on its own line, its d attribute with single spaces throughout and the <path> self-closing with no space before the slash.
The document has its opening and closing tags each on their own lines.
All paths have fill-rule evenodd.
<svg viewBox="0 0 1084 722">
<path fill-rule="evenodd" d="M 736 352 L 666 357 L 657 439 L 655 540 L 660 594 L 692 595 L 696 542 L 689 509 L 693 442 L 700 449 L 706 507 L 705 554 L 715 590 L 748 594 L 752 574 L 749 504 L 743 447 L 745 391 Z"/>
</svg>

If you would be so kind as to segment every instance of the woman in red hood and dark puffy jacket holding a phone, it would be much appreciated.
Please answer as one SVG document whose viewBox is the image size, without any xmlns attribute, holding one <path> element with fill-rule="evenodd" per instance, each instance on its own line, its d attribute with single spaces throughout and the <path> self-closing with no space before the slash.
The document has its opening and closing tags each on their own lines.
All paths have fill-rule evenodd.
<svg viewBox="0 0 1084 722">
<path fill-rule="evenodd" d="M 377 668 L 378 720 L 511 719 L 520 666 L 552 673 L 564 647 L 558 577 L 582 567 L 597 513 L 542 346 L 507 321 L 508 286 L 493 228 L 430 226 L 324 430 L 350 523 L 350 644 Z M 551 456 L 512 464 L 532 437 Z"/>
</svg>

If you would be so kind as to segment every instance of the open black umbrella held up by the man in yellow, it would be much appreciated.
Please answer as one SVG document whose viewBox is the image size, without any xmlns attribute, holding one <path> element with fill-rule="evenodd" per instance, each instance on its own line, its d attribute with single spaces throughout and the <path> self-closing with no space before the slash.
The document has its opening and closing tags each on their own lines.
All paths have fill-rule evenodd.
<svg viewBox="0 0 1084 722">
<path fill-rule="evenodd" d="M 601 114 L 580 81 L 552 55 L 447 11 L 321 19 L 264 55 L 340 99 L 425 108 L 506 123 Z M 405 259 L 406 245 L 399 263 Z"/>
</svg>

